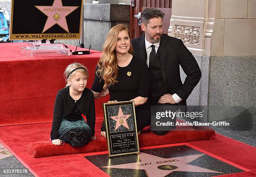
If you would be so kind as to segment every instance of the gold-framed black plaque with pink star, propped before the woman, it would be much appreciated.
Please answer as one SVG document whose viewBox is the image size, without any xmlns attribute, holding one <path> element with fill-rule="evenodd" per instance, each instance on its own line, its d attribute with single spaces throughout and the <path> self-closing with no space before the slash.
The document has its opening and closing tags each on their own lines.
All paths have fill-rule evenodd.
<svg viewBox="0 0 256 177">
<path fill-rule="evenodd" d="M 138 154 L 138 132 L 134 101 L 104 103 L 108 157 Z"/>
</svg>

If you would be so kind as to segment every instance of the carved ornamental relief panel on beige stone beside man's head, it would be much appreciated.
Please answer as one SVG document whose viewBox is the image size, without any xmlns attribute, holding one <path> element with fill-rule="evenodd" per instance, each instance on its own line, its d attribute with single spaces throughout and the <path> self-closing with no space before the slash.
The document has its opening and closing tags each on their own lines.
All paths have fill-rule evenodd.
<svg viewBox="0 0 256 177">
<path fill-rule="evenodd" d="M 199 45 L 200 27 L 174 25 L 174 37 L 184 43 Z"/>
</svg>

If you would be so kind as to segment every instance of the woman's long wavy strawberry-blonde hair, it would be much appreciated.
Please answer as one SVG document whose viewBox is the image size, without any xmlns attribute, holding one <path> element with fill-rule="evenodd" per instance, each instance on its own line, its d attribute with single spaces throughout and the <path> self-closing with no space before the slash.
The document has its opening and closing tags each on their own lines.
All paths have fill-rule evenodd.
<svg viewBox="0 0 256 177">
<path fill-rule="evenodd" d="M 108 86 L 117 82 L 116 77 L 118 75 L 118 62 L 115 56 L 115 47 L 118 42 L 118 34 L 121 30 L 127 31 L 131 43 L 131 35 L 127 26 L 125 25 L 115 25 L 108 32 L 107 39 L 103 45 L 100 61 L 97 64 L 99 68 L 96 71 L 97 76 L 105 81 L 103 88 L 108 88 Z M 132 45 L 128 53 L 133 53 Z"/>
</svg>

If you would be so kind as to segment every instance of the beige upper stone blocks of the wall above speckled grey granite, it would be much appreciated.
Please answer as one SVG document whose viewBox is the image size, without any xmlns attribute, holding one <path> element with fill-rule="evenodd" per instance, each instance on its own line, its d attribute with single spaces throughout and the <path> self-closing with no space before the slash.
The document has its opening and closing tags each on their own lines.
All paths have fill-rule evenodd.
<svg viewBox="0 0 256 177">
<path fill-rule="evenodd" d="M 169 35 L 205 56 L 256 56 L 256 0 L 173 0 Z"/>
</svg>

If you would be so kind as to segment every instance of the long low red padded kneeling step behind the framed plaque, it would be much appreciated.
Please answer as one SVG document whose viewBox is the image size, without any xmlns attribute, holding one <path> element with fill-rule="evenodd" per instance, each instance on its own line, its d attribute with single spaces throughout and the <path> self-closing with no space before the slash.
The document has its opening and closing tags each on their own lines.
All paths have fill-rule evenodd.
<svg viewBox="0 0 256 177">
<path fill-rule="evenodd" d="M 213 139 L 213 137 L 215 137 L 215 131 L 212 129 L 200 131 L 169 131 L 164 136 L 159 136 L 154 134 L 152 131 L 148 131 L 139 135 L 139 144 L 140 147 L 147 147 L 161 144 L 209 140 Z M 107 142 L 103 137 L 97 137 L 97 140 L 91 141 L 89 144 L 83 147 L 72 147 L 69 144 L 56 146 L 50 141 L 33 142 L 28 144 L 28 154 L 34 158 L 67 154 L 81 154 L 105 150 L 107 150 Z"/>
</svg>

